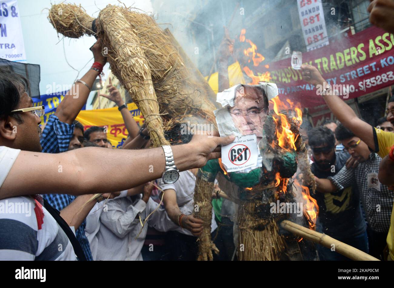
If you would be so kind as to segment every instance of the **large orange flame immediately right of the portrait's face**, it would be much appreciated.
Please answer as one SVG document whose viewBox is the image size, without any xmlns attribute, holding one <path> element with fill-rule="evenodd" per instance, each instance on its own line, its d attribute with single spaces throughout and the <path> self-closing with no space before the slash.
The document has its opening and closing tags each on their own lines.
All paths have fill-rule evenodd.
<svg viewBox="0 0 394 288">
<path fill-rule="evenodd" d="M 288 122 L 288 117 L 291 115 L 286 116 L 281 113 L 281 111 L 294 110 L 295 115 L 292 116 L 292 122 L 299 127 L 302 123 L 301 109 L 299 107 L 294 107 L 294 103 L 289 99 L 287 99 L 286 102 L 290 104 L 290 107 L 286 105 L 286 103 L 281 102 L 279 97 L 271 99 L 270 102 L 273 103 L 273 110 L 275 112 L 275 114 L 273 114 L 273 120 L 276 125 L 278 145 L 286 151 L 297 150 L 295 142 L 299 134 L 290 130 L 291 124 Z M 299 105 L 299 103 L 297 105 Z"/>
</svg>

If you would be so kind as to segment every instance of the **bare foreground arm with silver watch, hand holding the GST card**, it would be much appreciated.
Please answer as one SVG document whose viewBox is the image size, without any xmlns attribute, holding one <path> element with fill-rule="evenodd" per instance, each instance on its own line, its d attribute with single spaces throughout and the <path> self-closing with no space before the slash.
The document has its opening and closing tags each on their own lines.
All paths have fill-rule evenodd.
<svg viewBox="0 0 394 288">
<path fill-rule="evenodd" d="M 221 156 L 220 145 L 233 140 L 233 136 L 194 135 L 188 144 L 172 146 L 175 165 L 180 171 L 202 167 Z M 161 147 L 116 151 L 87 147 L 59 154 L 20 151 L 0 187 L 0 199 L 37 193 L 123 191 L 160 178 L 164 168 Z"/>
</svg>

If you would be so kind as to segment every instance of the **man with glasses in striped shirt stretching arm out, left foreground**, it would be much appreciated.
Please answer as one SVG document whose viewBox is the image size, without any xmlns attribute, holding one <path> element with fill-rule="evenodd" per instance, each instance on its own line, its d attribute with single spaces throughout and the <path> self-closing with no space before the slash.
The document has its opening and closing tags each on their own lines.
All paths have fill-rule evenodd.
<svg viewBox="0 0 394 288">
<path fill-rule="evenodd" d="M 161 177 L 164 150 L 40 153 L 40 112 L 32 112 L 40 108 L 15 111 L 32 108 L 28 86 L 22 76 L 0 69 L 0 206 L 8 209 L 0 210 L 0 260 L 76 260 L 76 255 L 85 259 L 68 223 L 37 193 L 77 196 L 136 187 Z M 233 140 L 194 135 L 188 144 L 171 148 L 174 162 L 180 171 L 202 167 L 220 157 L 220 145 Z M 136 166 L 138 159 L 142 160 Z M 71 214 L 79 218 L 76 212 Z"/>
</svg>

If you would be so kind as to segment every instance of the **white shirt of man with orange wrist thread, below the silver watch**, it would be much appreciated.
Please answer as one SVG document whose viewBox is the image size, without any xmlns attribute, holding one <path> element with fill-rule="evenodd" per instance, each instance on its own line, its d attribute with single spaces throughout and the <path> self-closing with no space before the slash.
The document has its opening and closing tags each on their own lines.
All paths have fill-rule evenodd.
<svg viewBox="0 0 394 288">
<path fill-rule="evenodd" d="M 215 180 L 216 181 L 216 180 Z M 196 177 L 190 171 L 182 171 L 179 173 L 179 179 L 177 182 L 173 184 L 164 184 L 163 180 L 159 180 L 159 187 L 162 190 L 173 189 L 177 194 L 177 204 L 179 207 L 180 212 L 185 215 L 193 214 L 194 212 L 194 188 L 196 184 Z M 164 214 L 162 217 L 166 218 L 167 221 L 171 221 L 168 217 L 167 212 L 165 209 L 160 208 L 160 213 Z M 212 221 L 211 221 L 211 233 L 217 228 L 217 224 L 215 221 L 215 212 L 212 208 Z M 181 227 L 177 226 L 179 233 L 186 234 L 193 236 L 188 229 L 182 229 Z"/>
</svg>

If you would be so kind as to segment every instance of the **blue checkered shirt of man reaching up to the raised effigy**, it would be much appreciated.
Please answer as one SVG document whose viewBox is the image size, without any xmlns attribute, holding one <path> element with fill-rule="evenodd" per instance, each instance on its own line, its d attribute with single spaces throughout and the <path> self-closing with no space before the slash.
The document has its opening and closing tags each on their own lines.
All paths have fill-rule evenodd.
<svg viewBox="0 0 394 288">
<path fill-rule="evenodd" d="M 41 146 L 43 148 L 42 152 L 60 153 L 67 151 L 72 138 L 72 133 L 74 132 L 74 126 L 75 125 L 73 124 L 61 122 L 55 114 L 50 115 L 43 131 L 43 137 L 41 138 Z M 50 205 L 52 205 L 52 207 L 59 211 L 70 205 L 70 203 L 76 198 L 76 196 L 69 194 L 46 194 L 43 195 L 43 197 Z M 75 236 L 81 244 L 86 259 L 93 261 L 89 240 L 87 240 L 87 237 L 85 236 L 85 227 L 86 220 L 84 220 L 84 222 L 82 222 L 75 231 Z"/>
</svg>

